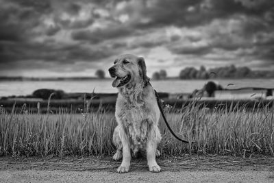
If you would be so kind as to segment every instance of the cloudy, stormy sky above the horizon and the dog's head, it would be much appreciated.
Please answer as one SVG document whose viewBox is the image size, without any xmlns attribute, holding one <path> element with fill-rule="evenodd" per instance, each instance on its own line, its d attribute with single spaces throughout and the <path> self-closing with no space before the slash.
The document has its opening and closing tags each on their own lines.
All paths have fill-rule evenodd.
<svg viewBox="0 0 274 183">
<path fill-rule="evenodd" d="M 0 0 L 0 75 L 108 75 L 116 56 L 147 72 L 187 66 L 274 71 L 273 0 Z"/>
</svg>

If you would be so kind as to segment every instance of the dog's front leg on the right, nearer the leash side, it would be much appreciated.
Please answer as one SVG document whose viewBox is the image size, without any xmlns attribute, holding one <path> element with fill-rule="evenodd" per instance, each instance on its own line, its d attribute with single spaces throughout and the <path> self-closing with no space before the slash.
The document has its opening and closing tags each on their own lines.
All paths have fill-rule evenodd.
<svg viewBox="0 0 274 183">
<path fill-rule="evenodd" d="M 160 172 L 161 168 L 157 164 L 155 160 L 155 154 L 157 150 L 157 138 L 153 136 L 153 134 L 156 134 L 157 132 L 150 132 L 149 138 L 147 139 L 147 165 L 149 165 L 149 171 L 151 172 Z"/>
</svg>

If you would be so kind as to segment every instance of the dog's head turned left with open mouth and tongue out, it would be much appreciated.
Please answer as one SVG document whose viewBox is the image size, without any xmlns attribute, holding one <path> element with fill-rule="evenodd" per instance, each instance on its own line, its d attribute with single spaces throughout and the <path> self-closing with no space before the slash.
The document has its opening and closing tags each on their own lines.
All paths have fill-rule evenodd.
<svg viewBox="0 0 274 183">
<path fill-rule="evenodd" d="M 116 77 L 112 82 L 113 87 L 127 86 L 132 82 L 147 83 L 147 67 L 144 58 L 131 54 L 121 55 L 114 61 L 114 66 L 108 69 L 111 77 Z"/>
</svg>

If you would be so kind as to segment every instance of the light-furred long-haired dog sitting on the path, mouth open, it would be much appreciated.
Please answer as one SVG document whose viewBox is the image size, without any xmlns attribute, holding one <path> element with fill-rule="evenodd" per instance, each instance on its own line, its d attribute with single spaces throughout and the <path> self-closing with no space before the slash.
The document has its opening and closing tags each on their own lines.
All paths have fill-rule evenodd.
<svg viewBox="0 0 274 183">
<path fill-rule="evenodd" d="M 154 90 L 147 77 L 144 58 L 132 54 L 121 55 L 108 70 L 115 77 L 112 86 L 119 94 L 115 107 L 118 123 L 113 133 L 113 143 L 117 150 L 114 160 L 123 158 L 118 173 L 129 171 L 130 161 L 138 152 L 146 152 L 149 171 L 160 172 L 155 160 L 160 156 L 157 146 L 161 141 L 158 128 L 160 110 Z"/>
</svg>

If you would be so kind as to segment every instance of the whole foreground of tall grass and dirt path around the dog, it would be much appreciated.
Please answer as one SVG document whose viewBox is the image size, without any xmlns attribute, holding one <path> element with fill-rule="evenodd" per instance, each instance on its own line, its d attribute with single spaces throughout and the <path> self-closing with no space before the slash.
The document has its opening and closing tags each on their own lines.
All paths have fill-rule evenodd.
<svg viewBox="0 0 274 183">
<path fill-rule="evenodd" d="M 0 106 L 0 182 L 273 182 L 273 101 L 201 101 L 165 106 L 177 141 L 160 121 L 162 172 L 147 171 L 145 158 L 116 173 L 109 105 L 79 109 L 55 103 Z M 21 105 L 22 104 L 22 105 Z M 180 107 L 181 106 L 181 107 Z M 215 107 L 214 107 L 215 106 Z M 253 106 L 253 107 L 252 107 Z M 105 108 L 106 107 L 106 108 Z M 55 112 L 53 112 L 55 111 Z M 57 112 L 56 112 L 57 111 Z"/>
</svg>

